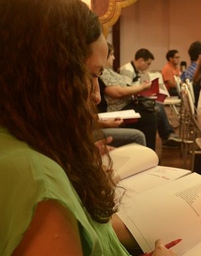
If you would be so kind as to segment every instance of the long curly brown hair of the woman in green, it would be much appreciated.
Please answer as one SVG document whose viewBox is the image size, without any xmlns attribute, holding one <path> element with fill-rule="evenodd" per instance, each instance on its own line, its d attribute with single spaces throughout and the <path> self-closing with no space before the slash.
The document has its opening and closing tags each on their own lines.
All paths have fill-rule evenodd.
<svg viewBox="0 0 201 256">
<path fill-rule="evenodd" d="M 85 65 L 97 16 L 80 0 L 1 0 L 0 16 L 0 125 L 62 166 L 90 216 L 107 222 L 116 186 L 94 145 Z"/>
</svg>

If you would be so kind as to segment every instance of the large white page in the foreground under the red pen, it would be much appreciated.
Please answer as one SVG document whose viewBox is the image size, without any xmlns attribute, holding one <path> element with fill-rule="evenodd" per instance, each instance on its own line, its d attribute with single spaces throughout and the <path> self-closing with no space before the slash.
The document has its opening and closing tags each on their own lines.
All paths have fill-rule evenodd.
<svg viewBox="0 0 201 256">
<path fill-rule="evenodd" d="M 173 250 L 183 255 L 201 238 L 201 176 L 192 173 L 136 195 L 122 215 L 144 252 L 153 250 L 158 238 L 165 243 L 182 238 Z"/>
</svg>

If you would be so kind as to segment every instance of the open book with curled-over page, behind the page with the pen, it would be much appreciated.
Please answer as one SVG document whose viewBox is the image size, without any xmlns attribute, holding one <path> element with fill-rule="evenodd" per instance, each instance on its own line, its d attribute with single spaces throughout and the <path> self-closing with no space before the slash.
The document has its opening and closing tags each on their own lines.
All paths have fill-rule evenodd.
<svg viewBox="0 0 201 256">
<path fill-rule="evenodd" d="M 158 165 L 158 156 L 150 148 L 139 144 L 128 144 L 110 151 L 114 171 L 121 178 L 120 184 L 127 195 L 142 192 L 183 177 L 190 170 Z"/>
</svg>

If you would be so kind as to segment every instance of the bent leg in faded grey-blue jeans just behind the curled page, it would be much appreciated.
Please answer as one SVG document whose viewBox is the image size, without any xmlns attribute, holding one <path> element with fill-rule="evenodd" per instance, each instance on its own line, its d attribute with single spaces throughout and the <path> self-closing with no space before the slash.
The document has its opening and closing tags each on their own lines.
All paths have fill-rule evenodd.
<svg viewBox="0 0 201 256">
<path fill-rule="evenodd" d="M 129 143 L 138 143 L 146 146 L 146 139 L 143 132 L 137 129 L 128 128 L 106 128 L 102 129 L 106 137 L 112 136 L 113 141 L 110 144 L 114 147 L 124 146 Z"/>
</svg>

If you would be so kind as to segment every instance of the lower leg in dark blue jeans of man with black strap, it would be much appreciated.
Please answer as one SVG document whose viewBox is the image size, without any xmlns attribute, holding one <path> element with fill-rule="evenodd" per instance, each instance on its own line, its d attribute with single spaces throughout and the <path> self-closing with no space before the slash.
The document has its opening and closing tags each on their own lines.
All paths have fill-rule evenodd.
<svg viewBox="0 0 201 256">
<path fill-rule="evenodd" d="M 156 102 L 155 111 L 158 122 L 158 134 L 161 139 L 168 139 L 170 134 L 175 131 L 168 121 L 164 105 Z"/>
</svg>

